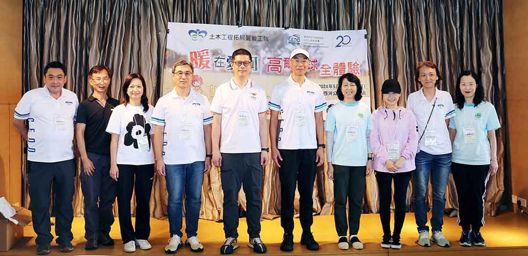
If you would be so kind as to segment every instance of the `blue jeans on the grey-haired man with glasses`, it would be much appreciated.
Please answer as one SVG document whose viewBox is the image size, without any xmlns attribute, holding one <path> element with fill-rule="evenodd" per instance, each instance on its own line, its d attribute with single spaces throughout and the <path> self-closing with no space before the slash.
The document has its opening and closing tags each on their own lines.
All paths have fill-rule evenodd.
<svg viewBox="0 0 528 256">
<path fill-rule="evenodd" d="M 185 233 L 196 236 L 202 200 L 203 161 L 191 164 L 165 165 L 168 192 L 168 223 L 172 235 L 182 237 L 182 198 L 185 191 Z"/>
</svg>

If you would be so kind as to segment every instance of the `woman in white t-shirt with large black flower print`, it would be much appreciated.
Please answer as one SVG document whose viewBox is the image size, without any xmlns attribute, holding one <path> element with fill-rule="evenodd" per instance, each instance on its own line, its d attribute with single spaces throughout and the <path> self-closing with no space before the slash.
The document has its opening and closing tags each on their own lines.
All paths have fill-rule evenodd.
<svg viewBox="0 0 528 256">
<path fill-rule="evenodd" d="M 122 87 L 122 103 L 112 110 L 106 131 L 110 142 L 110 176 L 117 181 L 117 203 L 125 252 L 136 246 L 148 250 L 150 191 L 154 181 L 154 129 L 149 121 L 154 107 L 148 104 L 145 79 L 129 74 Z M 135 231 L 130 218 L 130 200 L 136 191 Z"/>
</svg>

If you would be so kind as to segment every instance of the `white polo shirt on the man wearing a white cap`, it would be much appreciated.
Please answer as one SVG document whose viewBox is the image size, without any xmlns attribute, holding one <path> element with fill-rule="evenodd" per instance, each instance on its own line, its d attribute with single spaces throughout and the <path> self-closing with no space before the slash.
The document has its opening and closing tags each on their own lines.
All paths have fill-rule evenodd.
<svg viewBox="0 0 528 256">
<path fill-rule="evenodd" d="M 273 89 L 269 108 L 282 115 L 279 149 L 317 148 L 314 113 L 326 110 L 323 90 L 317 83 L 305 77 L 299 86 L 290 75 Z"/>
</svg>

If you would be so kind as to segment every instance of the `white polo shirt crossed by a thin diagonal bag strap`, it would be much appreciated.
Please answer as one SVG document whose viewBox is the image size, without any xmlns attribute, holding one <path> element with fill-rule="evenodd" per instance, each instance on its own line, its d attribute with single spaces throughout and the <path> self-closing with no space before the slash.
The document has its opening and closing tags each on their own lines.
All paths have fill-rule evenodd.
<svg viewBox="0 0 528 256">
<path fill-rule="evenodd" d="M 433 103 L 435 105 L 434 109 Z M 418 151 L 423 150 L 431 155 L 451 153 L 451 140 L 449 139 L 449 132 L 445 121 L 456 115 L 451 94 L 447 91 L 438 90 L 435 87 L 435 97 L 432 101 L 428 101 L 425 95 L 423 95 L 422 88 L 409 95 L 407 108 L 414 113 L 418 124 L 418 138 L 421 137 L 418 144 Z M 431 119 L 424 132 L 431 111 Z"/>
</svg>

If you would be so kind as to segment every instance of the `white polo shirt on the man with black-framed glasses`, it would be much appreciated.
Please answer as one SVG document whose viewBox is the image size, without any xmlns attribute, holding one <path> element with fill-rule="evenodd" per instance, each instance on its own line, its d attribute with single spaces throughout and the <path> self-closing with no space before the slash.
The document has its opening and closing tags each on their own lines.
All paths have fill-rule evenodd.
<svg viewBox="0 0 528 256">
<path fill-rule="evenodd" d="M 259 153 L 259 113 L 268 111 L 266 91 L 248 79 L 240 89 L 233 79 L 214 93 L 211 112 L 222 115 L 221 153 Z"/>
</svg>

